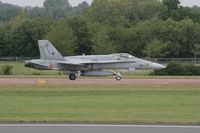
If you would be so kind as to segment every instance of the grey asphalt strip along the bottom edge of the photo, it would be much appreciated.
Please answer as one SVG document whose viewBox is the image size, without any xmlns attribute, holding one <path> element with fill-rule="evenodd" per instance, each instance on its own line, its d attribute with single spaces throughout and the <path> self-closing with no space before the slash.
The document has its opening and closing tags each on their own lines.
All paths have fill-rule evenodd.
<svg viewBox="0 0 200 133">
<path fill-rule="evenodd" d="M 1 124 L 0 133 L 200 133 L 200 126 Z"/>
</svg>

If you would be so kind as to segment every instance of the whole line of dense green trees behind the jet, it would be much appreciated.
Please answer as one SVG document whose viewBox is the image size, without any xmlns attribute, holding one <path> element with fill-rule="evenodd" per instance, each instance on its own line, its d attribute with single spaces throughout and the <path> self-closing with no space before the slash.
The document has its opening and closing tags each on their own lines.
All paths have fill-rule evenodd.
<svg viewBox="0 0 200 133">
<path fill-rule="evenodd" d="M 0 56 L 39 57 L 37 41 L 50 40 L 63 55 L 126 52 L 138 57 L 198 57 L 200 7 L 180 0 L 94 0 L 72 7 L 0 2 Z"/>
</svg>

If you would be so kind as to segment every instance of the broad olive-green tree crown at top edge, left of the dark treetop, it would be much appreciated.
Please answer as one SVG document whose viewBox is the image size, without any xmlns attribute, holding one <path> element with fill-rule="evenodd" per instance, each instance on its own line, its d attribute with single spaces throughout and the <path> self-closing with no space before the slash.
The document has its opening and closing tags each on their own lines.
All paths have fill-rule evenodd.
<svg viewBox="0 0 200 133">
<path fill-rule="evenodd" d="M 162 18 L 166 7 L 158 0 L 94 0 L 88 17 L 111 26 L 130 26 L 152 17 Z"/>
</svg>

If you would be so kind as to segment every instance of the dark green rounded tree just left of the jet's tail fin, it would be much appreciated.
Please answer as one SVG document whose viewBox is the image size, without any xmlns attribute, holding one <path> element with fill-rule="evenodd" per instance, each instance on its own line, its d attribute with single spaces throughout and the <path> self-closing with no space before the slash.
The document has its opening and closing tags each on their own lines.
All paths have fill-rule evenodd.
<svg viewBox="0 0 200 133">
<path fill-rule="evenodd" d="M 39 50 L 37 41 L 43 39 L 49 30 L 48 20 L 37 18 L 26 19 L 13 27 L 7 35 L 10 56 L 37 57 Z"/>
</svg>

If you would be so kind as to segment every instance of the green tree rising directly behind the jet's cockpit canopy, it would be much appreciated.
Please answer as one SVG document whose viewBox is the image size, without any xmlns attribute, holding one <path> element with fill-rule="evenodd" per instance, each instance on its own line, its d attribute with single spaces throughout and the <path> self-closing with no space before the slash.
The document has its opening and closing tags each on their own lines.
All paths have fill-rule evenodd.
<svg viewBox="0 0 200 133">
<path fill-rule="evenodd" d="M 128 52 L 139 57 L 144 56 L 145 46 L 154 38 L 160 39 L 162 23 L 163 21 L 159 19 L 146 20 L 129 29 L 118 31 L 120 35 L 116 36 L 115 42 L 118 40 L 120 42 L 119 52 Z"/>
</svg>

